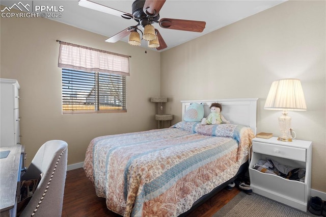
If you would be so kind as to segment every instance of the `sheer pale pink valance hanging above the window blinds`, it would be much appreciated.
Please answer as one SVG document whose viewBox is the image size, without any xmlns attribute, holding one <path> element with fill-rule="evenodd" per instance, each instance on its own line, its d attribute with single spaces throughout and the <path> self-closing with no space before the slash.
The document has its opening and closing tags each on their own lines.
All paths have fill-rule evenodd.
<svg viewBox="0 0 326 217">
<path fill-rule="evenodd" d="M 129 76 L 129 56 L 59 41 L 60 68 Z"/>
</svg>

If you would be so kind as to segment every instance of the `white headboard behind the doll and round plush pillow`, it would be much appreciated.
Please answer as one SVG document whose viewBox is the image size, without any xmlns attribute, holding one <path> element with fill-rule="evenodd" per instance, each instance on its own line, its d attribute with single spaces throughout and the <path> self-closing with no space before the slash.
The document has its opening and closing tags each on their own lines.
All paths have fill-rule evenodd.
<svg viewBox="0 0 326 217">
<path fill-rule="evenodd" d="M 258 98 L 240 98 L 240 99 L 211 99 L 211 100 L 182 100 L 182 121 L 187 107 L 191 103 L 203 103 L 206 118 L 210 113 L 209 106 L 213 102 L 222 104 L 221 114 L 232 124 L 241 124 L 252 128 L 256 134 L 256 114 Z"/>
</svg>

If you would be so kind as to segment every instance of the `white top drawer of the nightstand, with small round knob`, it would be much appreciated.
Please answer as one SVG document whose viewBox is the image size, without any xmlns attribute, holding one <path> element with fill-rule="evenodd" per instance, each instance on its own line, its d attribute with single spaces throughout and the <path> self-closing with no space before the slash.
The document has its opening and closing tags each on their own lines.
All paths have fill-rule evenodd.
<svg viewBox="0 0 326 217">
<path fill-rule="evenodd" d="M 253 142 L 253 152 L 306 161 L 306 149 L 304 148 Z"/>
</svg>

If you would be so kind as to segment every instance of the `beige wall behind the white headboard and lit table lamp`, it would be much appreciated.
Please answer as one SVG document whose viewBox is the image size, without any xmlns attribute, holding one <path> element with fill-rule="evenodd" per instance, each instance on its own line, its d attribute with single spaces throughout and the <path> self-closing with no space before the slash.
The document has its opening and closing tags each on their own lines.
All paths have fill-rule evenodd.
<svg viewBox="0 0 326 217">
<path fill-rule="evenodd" d="M 274 80 L 301 79 L 308 110 L 289 112 L 313 142 L 312 188 L 326 192 L 325 1 L 290 1 L 161 53 L 161 95 L 180 100 L 258 97 L 258 132 L 279 135 L 281 112 L 263 106 Z"/>
</svg>

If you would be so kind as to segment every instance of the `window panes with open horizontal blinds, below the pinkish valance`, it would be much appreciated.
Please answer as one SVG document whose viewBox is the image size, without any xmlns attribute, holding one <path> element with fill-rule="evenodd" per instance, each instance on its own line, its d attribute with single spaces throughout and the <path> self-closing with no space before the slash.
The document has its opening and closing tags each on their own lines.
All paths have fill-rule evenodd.
<svg viewBox="0 0 326 217">
<path fill-rule="evenodd" d="M 62 111 L 126 112 L 126 76 L 63 68 Z"/>
</svg>

